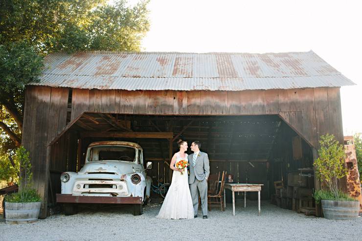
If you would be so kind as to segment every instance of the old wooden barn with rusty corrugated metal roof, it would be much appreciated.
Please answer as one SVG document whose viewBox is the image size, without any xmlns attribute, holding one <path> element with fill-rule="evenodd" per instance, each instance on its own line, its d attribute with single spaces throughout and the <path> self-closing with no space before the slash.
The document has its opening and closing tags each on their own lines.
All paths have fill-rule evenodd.
<svg viewBox="0 0 362 241">
<path fill-rule="evenodd" d="M 343 143 L 339 88 L 353 85 L 313 51 L 55 53 L 45 66 L 26 87 L 22 140 L 41 218 L 60 193 L 60 174 L 79 170 L 98 140 L 139 143 L 154 183 L 170 178 L 181 138 L 202 143 L 211 173 L 264 184 L 262 199 L 291 173 L 318 189 L 318 138 L 333 133 Z"/>
</svg>

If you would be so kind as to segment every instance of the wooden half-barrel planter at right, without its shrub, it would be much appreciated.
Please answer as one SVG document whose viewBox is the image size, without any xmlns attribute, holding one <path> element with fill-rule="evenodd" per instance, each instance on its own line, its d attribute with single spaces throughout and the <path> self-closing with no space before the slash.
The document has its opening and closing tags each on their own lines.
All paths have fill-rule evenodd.
<svg viewBox="0 0 362 241">
<path fill-rule="evenodd" d="M 360 211 L 359 201 L 321 200 L 324 218 L 355 219 Z"/>
</svg>

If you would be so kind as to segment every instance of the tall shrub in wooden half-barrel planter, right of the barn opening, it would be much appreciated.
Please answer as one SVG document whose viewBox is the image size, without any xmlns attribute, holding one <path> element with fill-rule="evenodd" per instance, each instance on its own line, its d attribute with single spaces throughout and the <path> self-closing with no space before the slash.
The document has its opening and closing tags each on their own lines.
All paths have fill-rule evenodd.
<svg viewBox="0 0 362 241">
<path fill-rule="evenodd" d="M 343 146 L 334 135 L 320 137 L 318 158 L 314 163 L 317 177 L 326 185 L 327 190 L 314 193 L 316 203 L 321 202 L 326 219 L 354 219 L 358 217 L 360 202 L 339 189 L 339 179 L 347 175 Z"/>
</svg>

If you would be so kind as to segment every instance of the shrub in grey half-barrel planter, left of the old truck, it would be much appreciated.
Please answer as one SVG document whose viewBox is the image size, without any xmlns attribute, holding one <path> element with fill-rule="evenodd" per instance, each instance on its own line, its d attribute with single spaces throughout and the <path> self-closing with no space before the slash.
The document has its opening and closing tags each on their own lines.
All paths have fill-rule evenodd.
<svg viewBox="0 0 362 241">
<path fill-rule="evenodd" d="M 5 197 L 6 223 L 30 223 L 38 219 L 41 198 L 32 187 L 32 173 L 29 152 L 20 147 L 15 158 L 20 164 L 20 189 L 18 193 Z"/>
</svg>

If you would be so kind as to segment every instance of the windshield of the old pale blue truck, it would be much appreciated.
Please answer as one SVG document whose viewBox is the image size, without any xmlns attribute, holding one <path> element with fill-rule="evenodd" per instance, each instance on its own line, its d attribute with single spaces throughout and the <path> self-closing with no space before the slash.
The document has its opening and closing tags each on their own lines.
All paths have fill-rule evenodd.
<svg viewBox="0 0 362 241">
<path fill-rule="evenodd" d="M 89 161 L 119 160 L 134 162 L 136 149 L 124 146 L 99 146 L 90 150 Z"/>
</svg>

